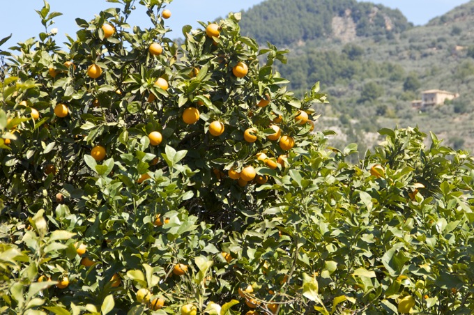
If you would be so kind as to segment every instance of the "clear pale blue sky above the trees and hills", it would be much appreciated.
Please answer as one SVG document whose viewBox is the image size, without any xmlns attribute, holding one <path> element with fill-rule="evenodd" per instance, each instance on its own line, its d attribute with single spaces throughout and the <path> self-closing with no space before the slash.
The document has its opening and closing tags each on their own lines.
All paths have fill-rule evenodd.
<svg viewBox="0 0 474 315">
<path fill-rule="evenodd" d="M 100 10 L 117 6 L 117 3 L 107 3 L 105 0 L 49 0 L 53 11 L 59 11 L 64 15 L 56 17 L 54 21 L 59 30 L 60 42 L 65 40 L 64 33 L 74 37 L 77 31 L 75 17 L 84 20 L 91 20 L 95 13 Z M 229 12 L 247 10 L 262 0 L 174 0 L 168 5 L 171 10 L 171 18 L 167 20 L 167 26 L 174 30 L 169 34 L 170 38 L 181 36 L 181 28 L 185 24 L 197 27 L 196 20 L 211 21 L 216 17 L 227 16 Z M 468 2 L 468 0 L 374 0 L 374 3 L 381 3 L 390 8 L 399 8 L 408 20 L 415 25 L 425 24 L 433 17 L 448 12 L 455 6 Z M 137 0 L 138 3 L 138 0 Z M 18 41 L 37 36 L 43 31 L 35 10 L 43 7 L 43 0 L 3 0 L 0 18 L 0 38 L 4 38 L 13 33 L 13 38 L 4 47 L 10 47 Z M 143 27 L 149 26 L 148 17 L 144 10 L 132 14 L 129 23 Z"/>
</svg>

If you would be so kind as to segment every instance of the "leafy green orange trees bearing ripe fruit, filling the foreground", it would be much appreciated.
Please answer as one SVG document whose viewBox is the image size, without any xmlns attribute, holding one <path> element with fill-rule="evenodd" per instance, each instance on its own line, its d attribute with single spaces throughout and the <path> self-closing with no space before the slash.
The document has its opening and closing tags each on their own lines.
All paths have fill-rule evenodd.
<svg viewBox="0 0 474 315">
<path fill-rule="evenodd" d="M 110 2 L 1 51 L 2 314 L 473 312 L 472 157 L 408 128 L 348 164 L 238 14 L 178 44 Z"/>
</svg>

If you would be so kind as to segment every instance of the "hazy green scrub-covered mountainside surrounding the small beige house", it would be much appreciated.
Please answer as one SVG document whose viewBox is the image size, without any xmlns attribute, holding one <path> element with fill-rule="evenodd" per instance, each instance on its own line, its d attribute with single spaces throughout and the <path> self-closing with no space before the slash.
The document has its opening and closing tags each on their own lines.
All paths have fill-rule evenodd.
<svg viewBox="0 0 474 315">
<path fill-rule="evenodd" d="M 291 89 L 303 93 L 317 81 L 329 94 L 321 129 L 343 146 L 371 148 L 377 130 L 418 125 L 454 148 L 474 149 L 474 1 L 424 26 L 399 10 L 354 0 L 268 0 L 243 13 L 241 29 L 280 49 L 278 66 Z M 422 91 L 459 93 L 443 105 L 413 108 Z"/>
</svg>

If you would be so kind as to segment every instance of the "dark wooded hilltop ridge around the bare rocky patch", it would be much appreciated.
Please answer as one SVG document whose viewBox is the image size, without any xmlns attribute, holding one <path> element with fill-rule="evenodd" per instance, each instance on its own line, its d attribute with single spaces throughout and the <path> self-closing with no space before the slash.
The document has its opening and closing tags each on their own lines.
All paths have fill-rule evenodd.
<svg viewBox="0 0 474 315">
<path fill-rule="evenodd" d="M 292 45 L 299 41 L 329 38 L 332 18 L 351 16 L 357 36 L 393 36 L 411 27 L 399 10 L 355 0 L 270 0 L 254 6 L 243 16 L 245 35 L 259 43 Z M 392 27 L 387 28 L 390 19 Z M 289 23 L 288 21 L 291 21 Z"/>
</svg>

